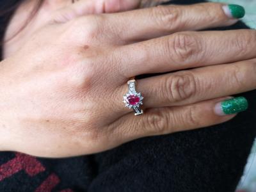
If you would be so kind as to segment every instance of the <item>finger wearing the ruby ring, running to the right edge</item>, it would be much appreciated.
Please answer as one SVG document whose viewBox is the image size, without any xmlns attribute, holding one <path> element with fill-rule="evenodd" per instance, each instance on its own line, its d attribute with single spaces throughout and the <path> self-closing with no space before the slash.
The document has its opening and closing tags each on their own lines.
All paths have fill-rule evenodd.
<svg viewBox="0 0 256 192">
<path fill-rule="evenodd" d="M 256 87 L 256 60 L 184 70 L 161 76 L 138 79 L 143 108 L 182 106 L 202 100 L 248 92 Z M 127 92 L 126 85 L 121 93 Z M 122 113 L 127 113 L 120 103 Z"/>
</svg>

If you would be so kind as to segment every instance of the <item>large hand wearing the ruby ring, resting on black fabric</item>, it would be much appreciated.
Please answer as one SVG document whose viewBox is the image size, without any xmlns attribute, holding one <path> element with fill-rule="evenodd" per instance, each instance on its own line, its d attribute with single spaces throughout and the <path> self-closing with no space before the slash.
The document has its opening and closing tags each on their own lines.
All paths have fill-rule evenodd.
<svg viewBox="0 0 256 192">
<path fill-rule="evenodd" d="M 241 99 L 223 111 L 220 101 L 256 87 L 256 33 L 189 32 L 236 22 L 222 6 L 159 6 L 45 25 L 1 63 L 2 149 L 76 156 L 230 120 L 235 115 L 224 113 Z M 124 108 L 130 77 L 173 70 L 181 71 L 138 80 L 145 114 Z"/>
</svg>

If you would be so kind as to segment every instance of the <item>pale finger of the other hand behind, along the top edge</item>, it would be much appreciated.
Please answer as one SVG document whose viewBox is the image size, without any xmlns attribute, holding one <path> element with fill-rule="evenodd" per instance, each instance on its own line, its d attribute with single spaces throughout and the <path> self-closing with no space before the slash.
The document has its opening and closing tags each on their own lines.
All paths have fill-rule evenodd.
<svg viewBox="0 0 256 192">
<path fill-rule="evenodd" d="M 54 14 L 54 22 L 67 22 L 76 17 L 95 13 L 114 13 L 132 10 L 140 5 L 140 0 L 83 0 L 65 6 Z"/>
</svg>

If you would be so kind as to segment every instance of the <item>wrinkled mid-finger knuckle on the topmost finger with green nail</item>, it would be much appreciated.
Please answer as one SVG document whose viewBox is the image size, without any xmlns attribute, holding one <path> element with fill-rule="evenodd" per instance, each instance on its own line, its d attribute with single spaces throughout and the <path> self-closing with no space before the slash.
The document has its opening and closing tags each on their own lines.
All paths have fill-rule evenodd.
<svg viewBox="0 0 256 192">
<path fill-rule="evenodd" d="M 180 11 L 175 6 L 156 6 L 152 8 L 152 19 L 154 19 L 157 28 L 170 32 L 180 25 Z"/>
</svg>

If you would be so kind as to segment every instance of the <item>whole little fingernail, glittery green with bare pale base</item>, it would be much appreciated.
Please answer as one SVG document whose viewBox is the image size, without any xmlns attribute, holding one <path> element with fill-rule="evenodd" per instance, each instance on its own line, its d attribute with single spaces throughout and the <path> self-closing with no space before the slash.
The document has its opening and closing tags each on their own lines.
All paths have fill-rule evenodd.
<svg viewBox="0 0 256 192">
<path fill-rule="evenodd" d="M 248 101 L 244 97 L 236 97 L 233 99 L 218 102 L 214 108 L 216 115 L 232 115 L 248 108 Z"/>
</svg>

